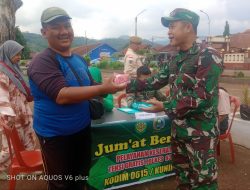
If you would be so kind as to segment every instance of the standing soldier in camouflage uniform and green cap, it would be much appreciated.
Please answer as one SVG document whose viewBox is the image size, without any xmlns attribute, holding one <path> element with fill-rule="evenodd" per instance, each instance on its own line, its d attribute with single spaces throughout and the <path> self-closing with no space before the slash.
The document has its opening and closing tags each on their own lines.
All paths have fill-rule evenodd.
<svg viewBox="0 0 250 190">
<path fill-rule="evenodd" d="M 170 44 L 178 54 L 145 82 L 131 80 L 127 92 L 160 89 L 170 85 L 165 102 L 151 101 L 147 111 L 166 111 L 172 120 L 173 166 L 177 189 L 218 189 L 216 146 L 218 79 L 222 59 L 216 50 L 201 48 L 196 41 L 199 16 L 175 9 L 161 22 L 169 28 Z"/>
</svg>

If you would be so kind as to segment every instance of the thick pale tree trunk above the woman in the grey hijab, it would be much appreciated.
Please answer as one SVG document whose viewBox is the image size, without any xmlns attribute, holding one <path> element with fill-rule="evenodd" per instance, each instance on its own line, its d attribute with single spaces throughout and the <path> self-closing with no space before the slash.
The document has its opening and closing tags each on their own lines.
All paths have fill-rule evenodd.
<svg viewBox="0 0 250 190">
<path fill-rule="evenodd" d="M 0 44 L 15 40 L 15 14 L 22 4 L 21 0 L 0 0 Z"/>
</svg>

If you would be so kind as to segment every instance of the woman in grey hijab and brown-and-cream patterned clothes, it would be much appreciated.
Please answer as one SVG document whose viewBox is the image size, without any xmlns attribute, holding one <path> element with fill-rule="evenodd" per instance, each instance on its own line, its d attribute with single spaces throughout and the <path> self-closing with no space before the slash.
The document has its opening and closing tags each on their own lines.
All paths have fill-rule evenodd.
<svg viewBox="0 0 250 190">
<path fill-rule="evenodd" d="M 0 119 L 8 127 L 15 127 L 25 149 L 32 150 L 35 148 L 35 136 L 32 129 L 32 112 L 28 103 L 32 101 L 32 96 L 18 66 L 23 48 L 12 40 L 0 46 Z M 0 179 L 6 179 L 10 155 L 1 125 L 0 134 Z"/>
</svg>

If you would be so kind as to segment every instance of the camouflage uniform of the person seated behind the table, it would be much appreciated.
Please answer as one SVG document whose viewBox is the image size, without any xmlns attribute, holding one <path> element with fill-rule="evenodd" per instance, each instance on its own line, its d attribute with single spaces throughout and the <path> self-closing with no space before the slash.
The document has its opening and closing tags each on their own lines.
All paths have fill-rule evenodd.
<svg viewBox="0 0 250 190">
<path fill-rule="evenodd" d="M 134 102 L 150 100 L 151 98 L 156 98 L 158 101 L 166 100 L 166 96 L 164 96 L 159 90 L 150 90 L 150 91 L 129 93 L 126 96 L 126 101 L 127 101 L 128 107 L 131 107 Z"/>
</svg>

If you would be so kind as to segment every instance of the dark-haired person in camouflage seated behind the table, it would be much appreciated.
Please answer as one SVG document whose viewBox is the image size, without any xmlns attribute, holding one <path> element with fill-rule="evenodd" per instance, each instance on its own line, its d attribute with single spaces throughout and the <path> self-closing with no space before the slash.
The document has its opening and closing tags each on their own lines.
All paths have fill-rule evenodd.
<svg viewBox="0 0 250 190">
<path fill-rule="evenodd" d="M 151 71 L 146 65 L 139 67 L 136 74 L 137 79 L 140 81 L 145 81 L 147 78 L 151 77 Z M 126 96 L 127 106 L 137 108 L 136 102 L 144 102 L 152 98 L 155 98 L 158 101 L 166 100 L 166 96 L 164 96 L 159 90 L 145 90 L 141 92 L 128 93 Z"/>
</svg>

